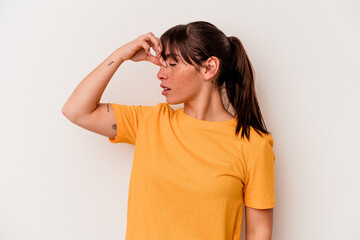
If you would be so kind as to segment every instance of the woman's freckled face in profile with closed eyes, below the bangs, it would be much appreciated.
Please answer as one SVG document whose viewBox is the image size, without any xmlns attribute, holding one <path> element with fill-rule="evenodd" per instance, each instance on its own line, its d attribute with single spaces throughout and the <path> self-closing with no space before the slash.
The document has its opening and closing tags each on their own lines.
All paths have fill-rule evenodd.
<svg viewBox="0 0 360 240">
<path fill-rule="evenodd" d="M 165 51 L 165 55 L 168 55 L 168 52 Z M 170 88 L 162 92 L 167 103 L 180 104 L 198 100 L 203 81 L 195 66 L 186 63 L 180 56 L 178 62 L 171 57 L 166 59 L 167 66 L 161 65 L 157 77 L 161 81 L 161 87 Z"/>
</svg>

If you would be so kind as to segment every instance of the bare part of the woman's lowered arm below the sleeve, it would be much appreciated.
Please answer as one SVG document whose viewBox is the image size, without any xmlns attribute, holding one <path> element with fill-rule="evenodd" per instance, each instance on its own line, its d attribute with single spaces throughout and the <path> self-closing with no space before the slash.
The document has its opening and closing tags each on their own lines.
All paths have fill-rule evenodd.
<svg viewBox="0 0 360 240">
<path fill-rule="evenodd" d="M 271 240 L 273 208 L 255 209 L 245 206 L 245 239 Z"/>
</svg>

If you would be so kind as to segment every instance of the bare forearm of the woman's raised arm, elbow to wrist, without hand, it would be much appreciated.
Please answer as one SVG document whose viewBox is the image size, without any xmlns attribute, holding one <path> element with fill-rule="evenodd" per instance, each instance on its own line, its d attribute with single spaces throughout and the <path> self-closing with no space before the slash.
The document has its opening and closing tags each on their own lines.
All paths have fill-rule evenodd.
<svg viewBox="0 0 360 240">
<path fill-rule="evenodd" d="M 118 48 L 78 84 L 63 106 L 63 114 L 75 120 L 94 111 L 110 79 L 123 62 L 121 49 Z"/>
</svg>

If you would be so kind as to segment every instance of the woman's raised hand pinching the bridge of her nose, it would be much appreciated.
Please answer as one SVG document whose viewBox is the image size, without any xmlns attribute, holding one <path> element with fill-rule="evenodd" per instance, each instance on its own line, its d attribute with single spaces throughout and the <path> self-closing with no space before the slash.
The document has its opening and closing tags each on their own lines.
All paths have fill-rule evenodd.
<svg viewBox="0 0 360 240">
<path fill-rule="evenodd" d="M 150 48 L 156 52 L 156 57 L 151 55 Z M 135 40 L 128 42 L 120 47 L 121 58 L 126 60 L 132 60 L 134 62 L 149 61 L 158 66 L 164 65 L 166 62 L 161 56 L 163 47 L 159 38 L 151 32 L 141 35 Z"/>
</svg>

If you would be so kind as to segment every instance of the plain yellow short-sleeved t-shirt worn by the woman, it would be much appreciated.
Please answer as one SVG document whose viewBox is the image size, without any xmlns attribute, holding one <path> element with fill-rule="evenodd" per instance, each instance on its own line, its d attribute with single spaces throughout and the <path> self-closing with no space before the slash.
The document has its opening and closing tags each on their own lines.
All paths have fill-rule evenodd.
<svg viewBox="0 0 360 240">
<path fill-rule="evenodd" d="M 126 240 L 240 239 L 243 204 L 275 206 L 271 135 L 251 128 L 248 141 L 235 118 L 199 120 L 167 103 L 111 105 L 109 141 L 135 145 Z"/>
</svg>

